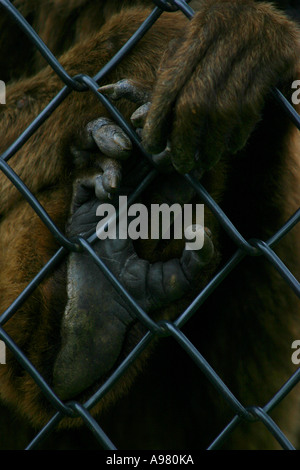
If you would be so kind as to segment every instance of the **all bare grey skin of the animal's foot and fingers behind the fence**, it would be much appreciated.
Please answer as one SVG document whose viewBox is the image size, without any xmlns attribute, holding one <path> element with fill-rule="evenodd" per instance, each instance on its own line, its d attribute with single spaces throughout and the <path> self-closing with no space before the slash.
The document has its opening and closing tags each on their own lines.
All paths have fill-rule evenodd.
<svg viewBox="0 0 300 470">
<path fill-rule="evenodd" d="M 142 105 L 132 116 L 132 124 L 142 127 L 146 120 L 150 95 L 130 80 L 102 87 L 110 98 L 126 97 Z M 80 145 L 71 151 L 80 167 L 89 152 L 97 155 L 99 172 L 75 182 L 69 237 L 87 236 L 96 229 L 96 210 L 100 202 L 111 199 L 120 190 L 122 164 L 132 150 L 124 131 L 107 118 L 90 122 L 81 134 Z M 171 149 L 153 156 L 163 169 L 170 166 Z M 174 184 L 175 182 L 175 184 Z M 188 202 L 193 196 L 189 185 L 174 174 L 161 189 L 167 202 Z M 209 232 L 204 234 L 201 250 L 184 249 L 180 259 L 149 263 L 140 259 L 132 241 L 116 238 L 98 240 L 93 249 L 120 281 L 132 298 L 147 313 L 159 310 L 195 287 L 204 266 L 209 264 L 214 247 Z M 62 346 L 53 373 L 54 391 L 61 399 L 75 397 L 111 371 L 122 352 L 126 335 L 137 321 L 123 297 L 105 278 L 92 257 L 71 253 L 67 271 L 68 302 L 62 320 Z"/>
</svg>

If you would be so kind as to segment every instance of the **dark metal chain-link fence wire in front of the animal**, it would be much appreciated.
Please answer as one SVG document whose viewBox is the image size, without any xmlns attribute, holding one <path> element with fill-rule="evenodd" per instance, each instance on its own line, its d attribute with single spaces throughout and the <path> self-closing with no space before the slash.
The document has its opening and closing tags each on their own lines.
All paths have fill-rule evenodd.
<svg viewBox="0 0 300 470">
<path fill-rule="evenodd" d="M 280 273 L 282 278 L 288 283 L 291 289 L 300 297 L 300 284 L 278 258 L 272 248 L 278 243 L 299 221 L 300 209 L 277 231 L 269 240 L 263 241 L 258 239 L 245 240 L 241 233 L 234 227 L 231 221 L 227 218 L 226 214 L 216 204 L 212 197 L 207 193 L 205 188 L 199 181 L 191 175 L 186 174 L 183 177 L 193 186 L 196 193 L 200 196 L 201 200 L 210 208 L 218 219 L 221 226 L 226 230 L 228 235 L 232 238 L 237 246 L 237 250 L 227 264 L 213 277 L 209 284 L 199 293 L 189 307 L 173 322 L 159 321 L 154 322 L 145 311 L 143 311 L 131 296 L 126 292 L 119 281 L 109 271 L 104 262 L 97 256 L 93 250 L 93 242 L 96 239 L 96 234 L 91 236 L 88 240 L 81 237 L 74 241 L 68 240 L 53 223 L 47 212 L 40 205 L 39 201 L 29 191 L 26 185 L 18 177 L 18 175 L 8 165 L 8 160 L 15 155 L 15 153 L 24 145 L 24 143 L 35 133 L 35 131 L 43 124 L 43 122 L 51 115 L 51 113 L 62 103 L 62 101 L 70 94 L 76 92 L 91 91 L 96 95 L 100 102 L 110 112 L 112 118 L 122 127 L 122 129 L 131 138 L 132 142 L 140 150 L 141 154 L 149 159 L 149 155 L 143 149 L 140 139 L 137 134 L 128 125 L 116 107 L 109 101 L 108 98 L 98 92 L 98 83 L 105 77 L 116 65 L 124 58 L 128 52 L 138 43 L 138 41 L 147 33 L 156 20 L 163 14 L 164 11 L 177 11 L 186 15 L 191 19 L 194 15 L 192 8 L 188 2 L 183 0 L 154 0 L 155 6 L 144 21 L 138 28 L 130 40 L 119 50 L 119 52 L 103 67 L 96 76 L 90 77 L 84 74 L 75 77 L 69 76 L 64 70 L 56 57 L 42 42 L 36 32 L 27 23 L 23 16 L 8 0 L 0 0 L 0 5 L 14 18 L 19 27 L 27 34 L 30 40 L 34 43 L 43 57 L 48 61 L 49 65 L 55 73 L 61 78 L 64 86 L 55 98 L 47 105 L 47 107 L 36 117 L 36 119 L 29 125 L 29 127 L 13 142 L 13 144 L 1 155 L 0 157 L 0 170 L 10 179 L 15 187 L 20 191 L 23 197 L 28 201 L 31 207 L 36 211 L 40 219 L 51 231 L 53 236 L 60 244 L 60 248 L 55 255 L 45 264 L 43 269 L 32 279 L 23 292 L 15 299 L 9 308 L 0 316 L 0 339 L 3 340 L 7 347 L 13 352 L 16 359 L 24 367 L 24 369 L 31 375 L 37 385 L 41 388 L 44 395 L 56 410 L 56 414 L 45 425 L 45 427 L 35 436 L 32 442 L 28 445 L 27 449 L 34 449 L 39 446 L 42 440 L 48 436 L 65 417 L 78 418 L 81 417 L 85 425 L 93 432 L 96 439 L 100 442 L 104 449 L 114 450 L 116 447 L 111 442 L 109 436 L 101 429 L 97 421 L 91 416 L 89 410 L 98 403 L 102 397 L 114 386 L 118 379 L 124 374 L 126 369 L 131 363 L 144 351 L 150 341 L 155 335 L 172 336 L 175 341 L 188 353 L 190 358 L 195 361 L 196 365 L 205 374 L 207 379 L 215 386 L 220 396 L 226 400 L 229 407 L 234 412 L 234 418 L 228 423 L 226 428 L 216 436 L 215 440 L 209 446 L 209 449 L 217 449 L 222 446 L 230 433 L 242 421 L 261 421 L 265 427 L 273 434 L 275 439 L 280 443 L 284 449 L 294 449 L 293 445 L 289 442 L 287 437 L 276 425 L 276 423 L 269 416 L 271 410 L 295 387 L 300 379 L 300 369 L 298 369 L 289 380 L 282 385 L 278 392 L 270 398 L 269 402 L 262 408 L 258 406 L 244 407 L 242 403 L 233 395 L 226 384 L 221 380 L 218 374 L 204 359 L 196 347 L 189 341 L 183 334 L 181 328 L 192 317 L 192 315 L 199 309 L 203 302 L 210 296 L 215 288 L 227 277 L 227 275 L 242 261 L 246 256 L 261 255 L 274 266 Z M 279 102 L 280 106 L 288 113 L 293 123 L 300 129 L 300 118 L 295 112 L 290 103 L 280 93 L 279 90 L 273 89 L 272 93 L 274 98 Z M 153 181 L 157 174 L 155 164 L 152 162 L 153 169 L 148 173 L 142 182 L 139 183 L 136 190 L 129 198 L 129 204 L 133 203 L 139 195 L 147 188 Z M 118 368 L 110 375 L 106 382 L 94 393 L 89 400 L 80 404 L 78 402 L 62 402 L 53 392 L 51 387 L 46 383 L 37 369 L 30 363 L 26 355 L 20 350 L 18 345 L 9 337 L 3 328 L 5 323 L 13 317 L 18 308 L 26 301 L 26 299 L 33 293 L 35 288 L 42 282 L 42 280 L 51 272 L 51 270 L 66 256 L 70 251 L 85 250 L 90 254 L 99 269 L 104 273 L 107 279 L 113 283 L 117 291 L 125 298 L 130 305 L 136 317 L 147 327 L 148 332 L 142 340 L 135 346 L 126 359 L 118 366 Z M 201 406 L 201 405 L 200 405 Z M 1 438 L 1 437 L 0 437 Z"/>
</svg>

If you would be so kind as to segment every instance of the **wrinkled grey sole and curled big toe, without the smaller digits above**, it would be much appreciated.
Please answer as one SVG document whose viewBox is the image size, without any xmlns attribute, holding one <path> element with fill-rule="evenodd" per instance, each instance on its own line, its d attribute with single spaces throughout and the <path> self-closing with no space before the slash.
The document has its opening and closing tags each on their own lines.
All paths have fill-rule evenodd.
<svg viewBox="0 0 300 470">
<path fill-rule="evenodd" d="M 68 236 L 85 236 L 96 224 L 93 179 L 77 186 Z M 117 230 L 118 232 L 118 230 Z M 190 292 L 203 266 L 213 257 L 205 232 L 201 250 L 183 250 L 180 259 L 149 263 L 140 259 L 132 241 L 97 240 L 96 254 L 147 313 L 157 311 Z M 68 302 L 63 315 L 62 346 L 56 358 L 53 386 L 61 399 L 70 399 L 101 379 L 117 362 L 125 337 L 136 318 L 128 303 L 105 278 L 92 257 L 71 253 L 68 258 Z"/>
</svg>

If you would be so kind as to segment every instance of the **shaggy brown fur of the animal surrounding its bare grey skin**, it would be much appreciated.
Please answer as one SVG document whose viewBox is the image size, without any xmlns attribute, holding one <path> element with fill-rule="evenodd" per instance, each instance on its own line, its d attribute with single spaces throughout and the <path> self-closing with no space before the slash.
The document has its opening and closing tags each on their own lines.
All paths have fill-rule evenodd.
<svg viewBox="0 0 300 470">
<path fill-rule="evenodd" d="M 146 17 L 146 6 L 151 2 L 20 0 L 14 3 L 30 19 L 50 49 L 57 55 L 62 54 L 60 62 L 71 75 L 84 72 L 92 76 L 131 37 Z M 251 1 L 221 3 L 241 11 L 241 17 L 237 17 L 228 37 L 223 30 L 222 40 L 218 41 L 216 35 L 220 28 L 218 19 L 222 23 L 222 15 L 227 14 L 220 2 L 211 0 L 200 5 L 191 27 L 181 14 L 165 14 L 129 57 L 106 77 L 105 83 L 134 78 L 154 87 L 153 109 L 147 125 L 159 123 L 164 135 L 169 130 L 164 127 L 164 119 L 171 114 L 172 108 L 176 162 L 179 169 L 185 168 L 184 171 L 189 165 L 185 161 L 185 151 L 187 154 L 192 151 L 190 146 L 199 131 L 199 115 L 205 110 L 208 122 L 212 123 L 208 129 L 212 137 L 202 147 L 203 166 L 210 168 L 211 163 L 216 164 L 207 171 L 204 184 L 246 238 L 267 239 L 299 205 L 297 133 L 274 103 L 267 101 L 263 120 L 247 146 L 243 147 L 241 141 L 244 143 L 245 128 L 248 130 L 252 126 L 250 111 L 257 110 L 258 115 L 261 112 L 266 90 L 272 84 L 279 84 L 280 77 L 280 85 L 286 91 L 296 77 L 298 33 L 292 22 L 268 4 L 254 7 Z M 214 4 L 219 8 L 217 16 L 212 15 Z M 139 7 L 128 9 L 135 5 Z M 260 8 L 266 24 L 259 24 L 256 8 Z M 120 15 L 114 16 L 119 11 Z M 267 24 L 270 18 L 273 23 Z M 204 20 L 209 20 L 208 26 L 204 27 Z M 0 27 L 3 31 L 0 78 L 11 79 L 7 105 L 0 109 L 0 150 L 4 151 L 56 95 L 62 84 L 49 67 L 44 67 L 44 60 L 27 44 L 18 29 L 11 29 L 6 15 L 1 16 Z M 246 38 L 246 43 L 249 42 L 248 55 L 245 50 L 239 52 L 241 35 Z M 177 38 L 181 39 L 176 46 L 178 54 L 174 63 L 172 54 L 171 59 L 167 57 L 167 46 Z M 211 41 L 215 44 L 210 50 L 212 58 L 205 49 Z M 223 56 L 235 48 L 243 55 L 233 72 L 229 67 L 226 77 L 226 70 L 222 68 Z M 257 56 L 251 55 L 253 50 Z M 166 56 L 157 80 L 163 54 Z M 187 55 L 190 60 L 183 67 Z M 257 60 L 263 58 L 265 62 L 259 62 L 255 75 L 250 76 L 251 61 L 255 57 Z M 211 59 L 215 64 L 214 72 L 211 72 Z M 275 64 L 272 69 L 270 64 Z M 189 88 L 185 88 L 187 83 Z M 227 88 L 223 92 L 225 83 Z M 244 86 L 244 94 L 238 88 L 240 83 Z M 249 107 L 249 114 L 240 116 L 243 125 L 235 135 L 238 143 L 234 145 L 243 148 L 234 160 L 232 156 L 224 156 L 216 162 L 219 140 L 214 131 L 222 125 L 222 120 L 236 125 L 237 109 L 230 109 L 228 105 L 235 103 L 237 92 L 239 97 L 245 96 Z M 214 103 L 212 109 L 211 100 Z M 125 100 L 120 102 L 119 108 L 127 118 L 134 110 L 134 106 Z M 70 144 L 89 121 L 103 115 L 107 112 L 91 93 L 71 94 L 10 161 L 62 230 L 69 211 L 72 182 L 76 178 Z M 155 145 L 162 137 L 160 129 L 156 134 L 151 128 Z M 146 126 L 148 143 L 151 135 L 147 134 Z M 215 142 L 216 146 L 210 150 Z M 160 182 L 149 188 L 145 196 L 148 200 L 154 200 L 155 191 L 164 178 L 160 177 Z M 58 245 L 4 175 L 0 175 L 0 187 L 0 312 L 3 312 Z M 220 247 L 220 263 L 224 262 L 234 247 L 209 212 L 206 221 L 213 231 L 216 246 Z M 169 248 L 168 253 L 159 256 L 172 256 L 177 250 Z M 295 227 L 276 250 L 294 275 L 299 276 L 299 227 Z M 139 252 L 151 260 L 157 257 L 151 241 L 139 246 Z M 56 303 L 57 293 L 62 299 L 66 295 L 63 266 L 36 289 L 5 325 L 7 332 L 50 384 L 51 367 L 59 348 L 62 314 Z M 166 315 L 176 317 L 191 298 L 171 306 Z M 262 259 L 247 258 L 218 288 L 216 295 L 205 302 L 185 331 L 243 404 L 264 405 L 294 370 L 290 345 L 299 337 L 299 328 L 295 327 L 298 312 L 299 301 L 275 270 Z M 137 363 L 94 410 L 102 413 L 101 424 L 121 448 L 203 448 L 228 423 L 232 414 L 223 399 L 174 343 L 162 342 L 154 353 L 152 365 L 145 367 L 144 375 L 140 370 L 142 365 Z M 7 366 L 0 367 L 0 396 L 10 410 L 22 416 L 23 421 L 22 426 L 16 421 L 16 427 L 11 431 L 14 440 L 7 437 L 7 442 L 2 441 L 3 448 L 24 446 L 31 433 L 27 429 L 28 422 L 41 426 L 55 412 L 18 363 L 11 356 L 8 359 Z M 115 403 L 127 392 L 138 372 L 141 376 L 136 378 L 127 396 Z M 274 416 L 297 445 L 296 393 L 285 402 L 285 406 L 275 410 Z M 113 407 L 106 411 L 111 404 Z M 71 433 L 68 437 L 74 439 Z M 58 441 L 55 442 L 52 445 L 57 446 Z M 228 446 L 273 448 L 276 443 L 262 425 L 245 425 L 239 428 Z"/>
</svg>

